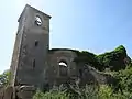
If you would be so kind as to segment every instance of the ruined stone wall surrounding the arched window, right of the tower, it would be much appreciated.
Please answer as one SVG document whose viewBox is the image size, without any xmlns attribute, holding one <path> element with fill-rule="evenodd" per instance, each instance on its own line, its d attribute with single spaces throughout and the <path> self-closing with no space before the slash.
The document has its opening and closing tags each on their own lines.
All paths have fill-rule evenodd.
<svg viewBox="0 0 132 99">
<path fill-rule="evenodd" d="M 74 58 L 77 57 L 76 53 L 67 48 L 50 50 L 47 72 L 45 75 L 50 82 L 64 82 L 68 77 L 77 75 L 76 63 Z M 66 63 L 67 75 L 62 76 L 59 70 L 59 62 Z M 65 67 L 64 67 L 65 69 Z"/>
</svg>

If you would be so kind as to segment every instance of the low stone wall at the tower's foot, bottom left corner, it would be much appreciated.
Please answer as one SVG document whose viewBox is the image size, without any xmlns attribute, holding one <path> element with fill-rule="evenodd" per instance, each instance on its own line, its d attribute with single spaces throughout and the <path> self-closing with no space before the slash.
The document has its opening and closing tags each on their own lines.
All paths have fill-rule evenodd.
<svg viewBox="0 0 132 99">
<path fill-rule="evenodd" d="M 0 99 L 32 99 L 35 90 L 33 86 L 9 86 L 0 89 Z"/>
</svg>

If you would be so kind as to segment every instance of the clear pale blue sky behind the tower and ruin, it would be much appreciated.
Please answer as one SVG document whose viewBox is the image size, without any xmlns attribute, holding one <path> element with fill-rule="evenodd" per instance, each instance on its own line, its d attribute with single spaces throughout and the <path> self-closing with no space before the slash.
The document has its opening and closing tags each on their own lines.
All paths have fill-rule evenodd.
<svg viewBox="0 0 132 99">
<path fill-rule="evenodd" d="M 0 73 L 11 65 L 18 18 L 26 3 L 52 15 L 51 48 L 99 54 L 123 44 L 132 56 L 132 0 L 2 0 Z"/>
</svg>

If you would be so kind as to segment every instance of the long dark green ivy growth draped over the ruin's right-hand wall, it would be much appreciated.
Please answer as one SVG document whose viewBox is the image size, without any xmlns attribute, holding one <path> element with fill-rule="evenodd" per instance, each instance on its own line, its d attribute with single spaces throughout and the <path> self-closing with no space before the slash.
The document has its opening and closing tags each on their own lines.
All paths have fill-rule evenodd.
<svg viewBox="0 0 132 99">
<path fill-rule="evenodd" d="M 78 55 L 76 62 L 88 63 L 99 70 L 105 70 L 106 68 L 110 68 L 111 70 L 124 69 L 131 62 L 131 58 L 127 55 L 127 50 L 123 45 L 100 55 L 96 55 L 87 51 L 75 52 Z"/>
</svg>

